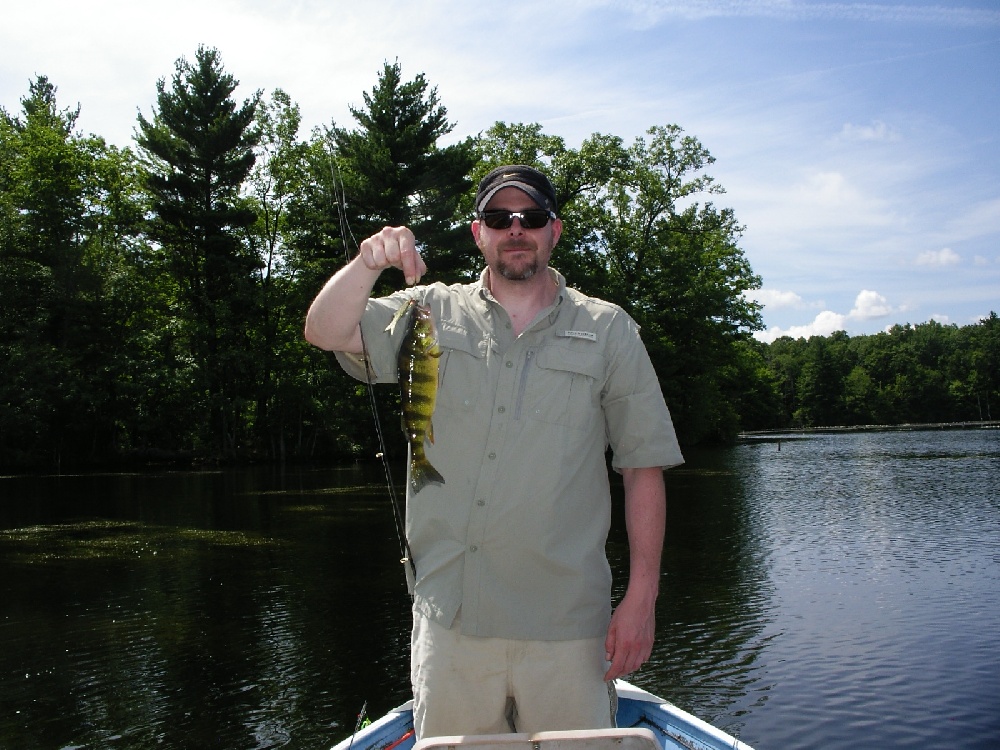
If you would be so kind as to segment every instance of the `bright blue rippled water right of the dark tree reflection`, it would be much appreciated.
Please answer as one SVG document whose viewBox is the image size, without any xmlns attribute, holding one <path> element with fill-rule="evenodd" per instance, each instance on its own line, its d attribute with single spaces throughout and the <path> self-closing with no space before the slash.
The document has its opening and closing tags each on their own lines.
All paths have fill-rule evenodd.
<svg viewBox="0 0 1000 750">
<path fill-rule="evenodd" d="M 1000 433 L 823 435 L 738 452 L 774 540 L 769 736 L 996 746 Z"/>
</svg>

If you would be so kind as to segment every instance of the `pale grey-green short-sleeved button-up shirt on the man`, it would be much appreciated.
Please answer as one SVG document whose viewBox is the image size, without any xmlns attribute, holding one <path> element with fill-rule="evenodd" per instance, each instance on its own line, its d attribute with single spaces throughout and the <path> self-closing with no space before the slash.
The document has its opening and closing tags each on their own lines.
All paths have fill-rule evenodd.
<svg viewBox="0 0 1000 750">
<path fill-rule="evenodd" d="M 603 636 L 611 618 L 605 455 L 623 468 L 683 462 L 635 321 L 558 286 L 519 336 L 485 285 L 431 284 L 369 300 L 361 326 L 373 380 L 397 381 L 407 299 L 428 306 L 442 350 L 434 442 L 444 477 L 414 493 L 406 533 L 414 606 L 466 635 L 531 640 Z M 338 353 L 365 379 L 361 357 Z"/>
</svg>

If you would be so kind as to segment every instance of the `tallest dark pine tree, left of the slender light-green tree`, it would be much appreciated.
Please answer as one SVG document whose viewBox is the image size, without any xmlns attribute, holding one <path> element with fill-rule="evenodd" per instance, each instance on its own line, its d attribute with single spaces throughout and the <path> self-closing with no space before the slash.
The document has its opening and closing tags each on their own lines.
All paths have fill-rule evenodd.
<svg viewBox="0 0 1000 750">
<path fill-rule="evenodd" d="M 168 87 L 157 83 L 152 120 L 139 115 L 137 143 L 152 199 L 149 234 L 176 284 L 178 361 L 193 363 L 194 413 L 207 409 L 200 446 L 232 457 L 254 398 L 250 345 L 258 307 L 258 258 L 243 240 L 255 213 L 241 198 L 259 131 L 252 128 L 261 92 L 237 106 L 238 82 L 215 49 L 181 58 Z M 186 351 L 185 351 L 186 350 Z"/>
</svg>

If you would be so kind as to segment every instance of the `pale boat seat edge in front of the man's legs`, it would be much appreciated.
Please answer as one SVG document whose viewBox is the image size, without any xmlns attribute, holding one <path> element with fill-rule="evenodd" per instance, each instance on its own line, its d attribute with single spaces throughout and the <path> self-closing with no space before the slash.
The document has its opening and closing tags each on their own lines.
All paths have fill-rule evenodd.
<svg viewBox="0 0 1000 750">
<path fill-rule="evenodd" d="M 578 729 L 535 734 L 427 737 L 413 750 L 661 750 L 648 729 Z"/>
</svg>

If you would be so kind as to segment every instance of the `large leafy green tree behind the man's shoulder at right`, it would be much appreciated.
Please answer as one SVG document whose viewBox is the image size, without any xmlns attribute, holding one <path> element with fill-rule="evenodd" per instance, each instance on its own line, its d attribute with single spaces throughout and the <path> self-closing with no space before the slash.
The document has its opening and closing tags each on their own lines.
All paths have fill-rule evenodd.
<svg viewBox="0 0 1000 750">
<path fill-rule="evenodd" d="M 722 193 L 705 173 L 708 150 L 676 125 L 636 139 L 603 206 L 612 286 L 643 326 L 678 430 L 690 442 L 740 427 L 728 368 L 734 343 L 761 328 L 744 292 L 760 286 L 738 242 L 731 209 L 703 198 Z"/>
</svg>

